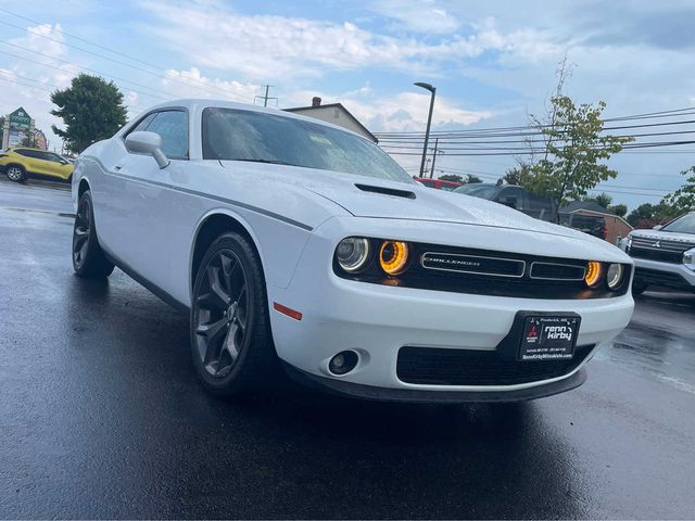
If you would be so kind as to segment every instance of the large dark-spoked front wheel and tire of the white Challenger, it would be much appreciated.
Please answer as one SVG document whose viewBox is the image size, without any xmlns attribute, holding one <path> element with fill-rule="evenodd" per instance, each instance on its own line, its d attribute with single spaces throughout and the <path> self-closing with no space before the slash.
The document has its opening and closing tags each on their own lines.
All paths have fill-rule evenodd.
<svg viewBox="0 0 695 521">
<path fill-rule="evenodd" d="M 191 305 L 191 355 L 210 392 L 235 396 L 270 383 L 277 357 L 269 323 L 254 247 L 239 233 L 219 236 L 200 263 Z"/>
</svg>

